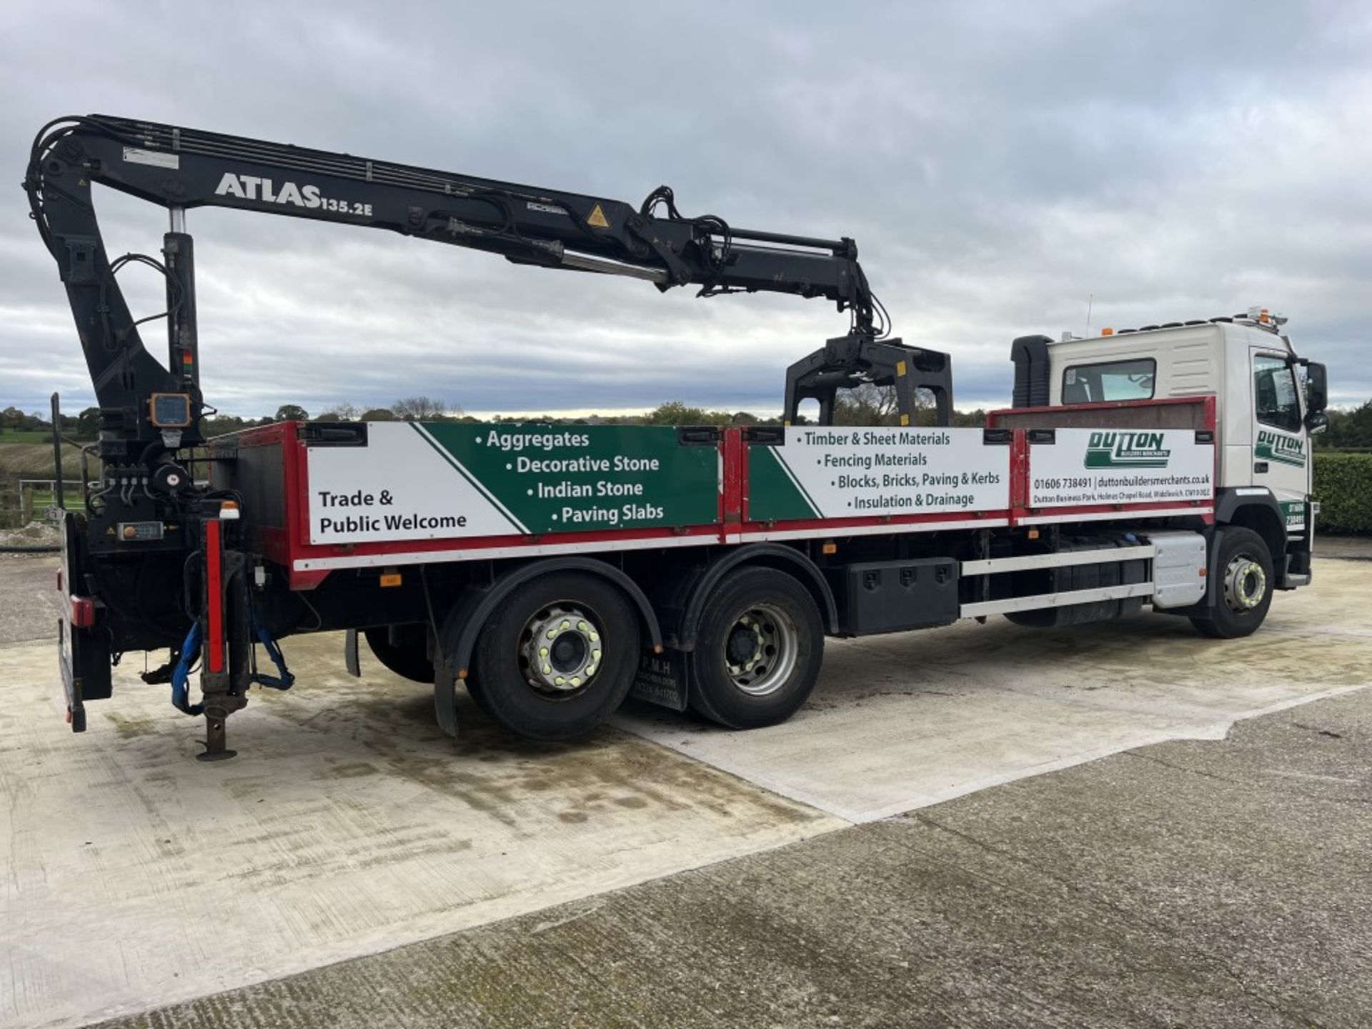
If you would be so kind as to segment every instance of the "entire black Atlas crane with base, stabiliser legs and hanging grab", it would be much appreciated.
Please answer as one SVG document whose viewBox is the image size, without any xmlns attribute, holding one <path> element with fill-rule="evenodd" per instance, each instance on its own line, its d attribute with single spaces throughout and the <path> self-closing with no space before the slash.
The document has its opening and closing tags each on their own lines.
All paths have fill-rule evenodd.
<svg viewBox="0 0 1372 1029">
<path fill-rule="evenodd" d="M 107 187 L 169 211 L 161 254 L 111 258 L 100 235 L 93 188 Z M 69 619 L 60 642 L 73 729 L 84 729 L 82 700 L 110 696 L 110 665 L 128 650 L 169 648 L 172 661 L 144 678 L 172 682 L 176 704 L 195 639 L 225 663 L 202 671 L 210 752 L 222 755 L 224 719 L 241 707 L 251 679 L 289 685 L 284 664 L 274 679 L 247 657 L 270 632 L 325 624 L 309 601 L 289 601 L 289 616 L 248 601 L 248 575 L 261 563 L 240 543 L 270 532 L 280 512 L 244 510 L 243 493 L 220 476 L 251 476 L 252 458 L 236 464 L 236 442 L 211 443 L 204 418 L 214 412 L 202 391 L 195 295 L 195 244 L 187 211 L 221 207 L 309 218 L 446 243 L 519 265 L 612 274 L 657 289 L 694 287 L 700 296 L 778 292 L 822 298 L 849 316 L 848 332 L 792 365 L 786 417 L 816 399 L 820 421 L 833 417 L 837 390 L 875 383 L 896 390 L 903 424 L 915 391 L 934 392 L 940 424 L 951 410 L 945 354 L 886 339 L 889 317 L 873 294 L 849 237 L 820 239 L 731 225 L 715 214 L 685 215 L 663 185 L 638 206 L 593 193 L 549 189 L 436 172 L 348 154 L 204 132 L 110 115 L 58 118 L 38 130 L 23 180 L 30 214 L 58 265 L 75 321 L 96 405 L 100 482 L 86 510 L 67 512 L 64 597 Z M 134 318 L 118 273 L 143 265 L 166 283 L 166 310 Z M 144 346 L 141 327 L 165 318 L 167 355 Z M 55 418 L 55 425 L 58 420 Z M 289 427 L 287 427 L 289 428 Z M 348 445 L 357 425 L 299 428 L 300 440 Z M 364 427 L 365 428 L 365 427 Z M 294 428 L 289 429 L 292 434 Z M 294 438 L 294 436 L 292 436 Z M 196 462 L 209 465 L 195 475 Z M 237 466 L 240 472 L 230 472 Z M 89 479 L 89 476 L 84 476 Z M 209 477 L 211 482 L 198 482 Z M 248 490 L 252 493 L 252 490 Z M 250 508 L 252 505 L 248 505 Z M 200 569 L 196 572 L 195 569 Z M 199 576 L 199 579 L 198 579 Z M 254 582 L 261 591 L 263 582 Z M 80 587 L 80 594 L 77 591 Z M 235 600 L 236 598 L 236 600 Z M 300 620 L 313 611 L 313 623 Z M 258 616 L 270 626 L 259 624 Z M 222 616 L 222 617 L 221 617 Z M 185 634 L 187 620 L 193 624 Z M 200 634 L 198 637 L 196 634 Z M 225 642 L 226 641 L 226 642 Z"/>
</svg>

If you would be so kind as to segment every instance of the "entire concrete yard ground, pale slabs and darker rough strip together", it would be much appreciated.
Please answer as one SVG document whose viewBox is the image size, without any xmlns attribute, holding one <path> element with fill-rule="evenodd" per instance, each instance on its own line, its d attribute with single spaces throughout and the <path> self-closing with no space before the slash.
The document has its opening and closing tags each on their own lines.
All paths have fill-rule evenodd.
<svg viewBox="0 0 1372 1029">
<path fill-rule="evenodd" d="M 471 704 L 447 740 L 328 635 L 285 641 L 299 685 L 200 764 L 141 656 L 73 735 L 51 642 L 3 648 L 0 1025 L 207 995 L 129 1025 L 1247 1025 L 1321 982 L 1338 1022 L 1372 952 L 1372 715 L 1309 702 L 1372 679 L 1364 569 L 1317 561 L 1247 641 L 1144 615 L 831 642 L 785 726 L 630 705 L 565 745 Z"/>
</svg>

